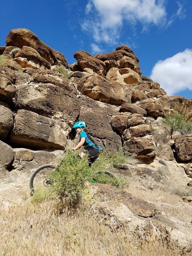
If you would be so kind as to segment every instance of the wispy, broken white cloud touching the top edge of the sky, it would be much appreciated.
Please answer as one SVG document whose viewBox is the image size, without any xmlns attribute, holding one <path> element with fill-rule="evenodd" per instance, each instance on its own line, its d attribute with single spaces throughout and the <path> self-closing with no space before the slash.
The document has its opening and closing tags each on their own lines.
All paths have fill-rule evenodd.
<svg viewBox="0 0 192 256">
<path fill-rule="evenodd" d="M 124 23 L 162 25 L 166 20 L 164 0 L 89 0 L 82 29 L 94 40 L 115 44 Z"/>
</svg>

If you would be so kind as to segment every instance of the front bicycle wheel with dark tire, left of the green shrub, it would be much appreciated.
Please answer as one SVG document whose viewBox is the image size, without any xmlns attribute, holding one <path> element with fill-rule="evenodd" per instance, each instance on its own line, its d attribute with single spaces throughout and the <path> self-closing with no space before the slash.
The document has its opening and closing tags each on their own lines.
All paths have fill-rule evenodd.
<svg viewBox="0 0 192 256">
<path fill-rule="evenodd" d="M 33 172 L 29 180 L 31 195 L 33 195 L 35 190 L 38 188 L 41 189 L 41 187 L 44 187 L 49 189 L 51 185 L 50 178 L 52 177 L 57 167 L 58 166 L 56 166 L 55 164 L 45 164 L 38 167 L 38 169 Z"/>
</svg>

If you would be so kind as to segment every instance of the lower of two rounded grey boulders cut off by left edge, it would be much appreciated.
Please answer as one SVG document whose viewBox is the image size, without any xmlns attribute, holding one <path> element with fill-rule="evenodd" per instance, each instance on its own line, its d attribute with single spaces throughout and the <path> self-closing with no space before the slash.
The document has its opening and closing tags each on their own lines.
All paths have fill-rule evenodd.
<svg viewBox="0 0 192 256">
<path fill-rule="evenodd" d="M 0 168 L 7 169 L 14 158 L 12 147 L 0 141 Z"/>
</svg>

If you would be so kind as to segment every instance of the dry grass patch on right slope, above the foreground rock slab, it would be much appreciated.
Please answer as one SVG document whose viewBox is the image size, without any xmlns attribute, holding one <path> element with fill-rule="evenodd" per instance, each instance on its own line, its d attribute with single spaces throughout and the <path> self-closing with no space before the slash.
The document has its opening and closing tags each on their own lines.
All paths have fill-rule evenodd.
<svg viewBox="0 0 192 256">
<path fill-rule="evenodd" d="M 140 186 L 142 185 L 142 186 Z M 143 189 L 142 189 L 143 188 Z M 182 195 L 190 193 L 191 189 L 186 186 L 169 185 L 158 186 L 148 180 L 132 181 L 126 189 L 132 195 L 145 201 L 155 204 L 160 212 L 164 212 L 167 216 L 172 216 L 180 221 L 190 223 L 192 220 L 192 205 L 182 201 L 182 197 L 178 195 L 180 191 Z"/>
</svg>

